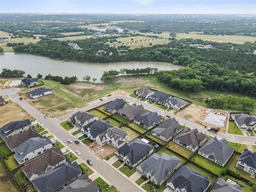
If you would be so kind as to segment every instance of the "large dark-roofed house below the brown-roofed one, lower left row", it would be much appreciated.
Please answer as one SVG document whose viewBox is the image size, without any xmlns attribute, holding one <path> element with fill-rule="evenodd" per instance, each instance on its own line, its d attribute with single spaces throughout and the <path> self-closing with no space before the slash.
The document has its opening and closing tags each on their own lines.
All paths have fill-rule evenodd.
<svg viewBox="0 0 256 192">
<path fill-rule="evenodd" d="M 76 162 L 65 162 L 31 182 L 40 192 L 60 191 L 81 175 L 82 170 Z"/>
</svg>

